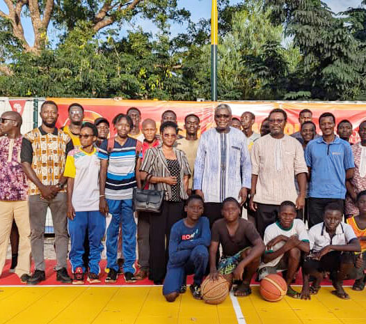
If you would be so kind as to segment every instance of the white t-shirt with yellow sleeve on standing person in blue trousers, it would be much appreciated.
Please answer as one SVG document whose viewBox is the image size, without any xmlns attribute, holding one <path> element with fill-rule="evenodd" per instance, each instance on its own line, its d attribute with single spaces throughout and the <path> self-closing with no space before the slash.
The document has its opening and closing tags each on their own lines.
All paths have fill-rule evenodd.
<svg viewBox="0 0 366 324">
<path fill-rule="evenodd" d="M 99 210 L 100 159 L 97 149 L 86 153 L 75 148 L 67 155 L 64 176 L 74 178 L 72 206 L 76 212 Z"/>
</svg>

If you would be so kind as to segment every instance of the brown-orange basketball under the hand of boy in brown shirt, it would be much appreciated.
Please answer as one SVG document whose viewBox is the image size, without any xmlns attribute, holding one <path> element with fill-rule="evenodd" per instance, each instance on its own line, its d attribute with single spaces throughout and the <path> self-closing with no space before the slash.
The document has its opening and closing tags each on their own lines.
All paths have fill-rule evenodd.
<svg viewBox="0 0 366 324">
<path fill-rule="evenodd" d="M 207 277 L 201 284 L 201 294 L 207 304 L 220 304 L 229 295 L 229 283 L 222 276 L 216 281 L 210 281 Z"/>
</svg>

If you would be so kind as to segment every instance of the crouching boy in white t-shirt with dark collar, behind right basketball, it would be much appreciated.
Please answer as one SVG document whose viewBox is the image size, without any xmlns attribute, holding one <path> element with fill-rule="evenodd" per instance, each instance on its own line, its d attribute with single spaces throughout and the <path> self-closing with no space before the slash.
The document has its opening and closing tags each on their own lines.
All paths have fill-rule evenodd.
<svg viewBox="0 0 366 324">
<path fill-rule="evenodd" d="M 266 251 L 260 264 L 259 278 L 286 271 L 287 295 L 299 299 L 300 294 L 290 286 L 301 265 L 301 254 L 310 252 L 308 231 L 301 219 L 296 218 L 296 206 L 292 201 L 280 204 L 278 221 L 266 227 L 264 244 Z"/>
</svg>

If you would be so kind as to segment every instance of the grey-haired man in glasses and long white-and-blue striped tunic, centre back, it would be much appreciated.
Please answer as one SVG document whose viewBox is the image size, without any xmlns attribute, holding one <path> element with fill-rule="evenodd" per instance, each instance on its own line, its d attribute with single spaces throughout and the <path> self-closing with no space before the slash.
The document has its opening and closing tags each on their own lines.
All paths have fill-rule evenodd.
<svg viewBox="0 0 366 324">
<path fill-rule="evenodd" d="M 205 201 L 205 216 L 209 218 L 210 227 L 222 217 L 221 206 L 226 198 L 238 198 L 243 205 L 251 173 L 246 137 L 230 127 L 230 106 L 218 105 L 214 118 L 216 128 L 200 137 L 193 177 L 193 190 Z"/>
</svg>

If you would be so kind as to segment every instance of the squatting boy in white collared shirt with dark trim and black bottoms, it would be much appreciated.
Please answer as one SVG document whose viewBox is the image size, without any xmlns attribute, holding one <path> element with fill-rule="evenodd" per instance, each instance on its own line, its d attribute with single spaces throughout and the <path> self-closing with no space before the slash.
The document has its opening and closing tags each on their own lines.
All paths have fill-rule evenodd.
<svg viewBox="0 0 366 324">
<path fill-rule="evenodd" d="M 324 272 L 330 272 L 334 295 L 349 299 L 342 284 L 344 279 L 351 279 L 355 272 L 357 256 L 361 252 L 360 242 L 352 227 L 342 222 L 343 211 L 336 203 L 330 203 L 324 211 L 324 222 L 312 226 L 309 230 L 310 249 L 312 253 L 303 263 L 302 299 L 310 299 L 320 289 Z M 309 276 L 315 278 L 309 286 Z"/>
</svg>

